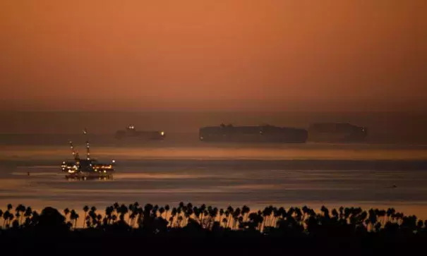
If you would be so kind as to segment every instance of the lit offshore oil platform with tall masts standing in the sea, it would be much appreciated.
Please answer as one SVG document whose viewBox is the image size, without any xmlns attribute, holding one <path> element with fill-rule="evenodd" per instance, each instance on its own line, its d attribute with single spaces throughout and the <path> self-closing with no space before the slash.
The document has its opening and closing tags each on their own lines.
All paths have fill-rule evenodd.
<svg viewBox="0 0 427 256">
<path fill-rule="evenodd" d="M 86 130 L 83 131 L 87 134 Z M 96 159 L 90 157 L 90 144 L 86 140 L 86 158 L 80 159 L 78 152 L 74 149 L 73 142 L 70 141 L 71 153 L 73 154 L 73 161 L 63 161 L 61 170 L 66 173 L 66 178 L 83 179 L 88 178 L 102 178 L 110 179 L 114 173 L 114 166 L 116 161 L 112 160 L 111 164 L 103 164 Z"/>
</svg>

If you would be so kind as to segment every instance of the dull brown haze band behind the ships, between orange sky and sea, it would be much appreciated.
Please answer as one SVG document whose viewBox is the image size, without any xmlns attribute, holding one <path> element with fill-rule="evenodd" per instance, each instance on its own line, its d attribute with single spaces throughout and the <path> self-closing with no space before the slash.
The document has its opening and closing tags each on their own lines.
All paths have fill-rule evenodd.
<svg viewBox="0 0 427 256">
<path fill-rule="evenodd" d="M 427 143 L 427 114 L 421 112 L 0 111 L 0 118 L 3 121 L 0 135 L 6 135 L 0 138 L 0 142 L 8 143 L 25 140 L 8 137 L 8 134 L 80 136 L 84 128 L 92 135 L 113 138 L 116 130 L 133 125 L 137 130 L 164 130 L 167 134 L 165 142 L 181 141 L 186 144 L 187 141 L 198 140 L 198 129 L 202 126 L 231 123 L 235 126 L 270 124 L 308 128 L 317 122 L 365 126 L 368 128 L 368 143 Z M 98 138 L 97 143 L 109 140 L 108 136 Z M 42 141 L 42 138 L 35 139 Z M 66 141 L 68 138 L 55 140 Z M 46 140 L 44 142 L 47 143 Z"/>
</svg>

